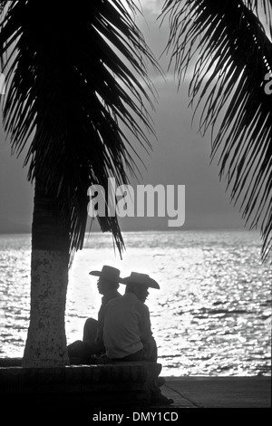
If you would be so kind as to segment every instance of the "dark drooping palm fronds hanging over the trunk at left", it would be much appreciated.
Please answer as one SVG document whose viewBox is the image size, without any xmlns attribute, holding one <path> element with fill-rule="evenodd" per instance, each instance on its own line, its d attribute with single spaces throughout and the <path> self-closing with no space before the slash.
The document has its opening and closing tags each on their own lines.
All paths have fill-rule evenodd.
<svg viewBox="0 0 272 426">
<path fill-rule="evenodd" d="M 153 132 L 146 63 L 157 64 L 124 3 L 136 10 L 131 0 L 0 1 L 5 131 L 18 155 L 31 140 L 29 179 L 59 199 L 70 252 L 83 246 L 89 186 L 128 181 L 135 137 L 150 148 L 141 122 Z M 121 250 L 117 218 L 98 219 Z"/>
</svg>

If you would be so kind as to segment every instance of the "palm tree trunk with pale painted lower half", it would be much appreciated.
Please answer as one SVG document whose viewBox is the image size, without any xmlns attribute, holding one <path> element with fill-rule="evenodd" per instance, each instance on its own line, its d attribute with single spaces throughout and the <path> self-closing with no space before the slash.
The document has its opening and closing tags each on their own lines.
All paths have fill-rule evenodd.
<svg viewBox="0 0 272 426">
<path fill-rule="evenodd" d="M 67 237 L 56 199 L 35 181 L 32 227 L 30 324 L 23 367 L 69 363 L 65 335 Z"/>
</svg>

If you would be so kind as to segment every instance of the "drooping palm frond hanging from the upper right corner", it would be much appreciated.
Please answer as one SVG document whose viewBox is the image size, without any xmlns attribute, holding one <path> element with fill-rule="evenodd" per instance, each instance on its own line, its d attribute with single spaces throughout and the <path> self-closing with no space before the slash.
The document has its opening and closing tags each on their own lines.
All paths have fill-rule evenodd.
<svg viewBox="0 0 272 426">
<path fill-rule="evenodd" d="M 211 156 L 243 218 L 260 227 L 264 259 L 272 249 L 272 96 L 264 91 L 272 44 L 259 17 L 265 11 L 272 34 L 271 10 L 271 0 L 168 0 L 162 10 L 179 82 L 197 56 L 189 95 L 199 128 L 212 130 Z"/>
</svg>

